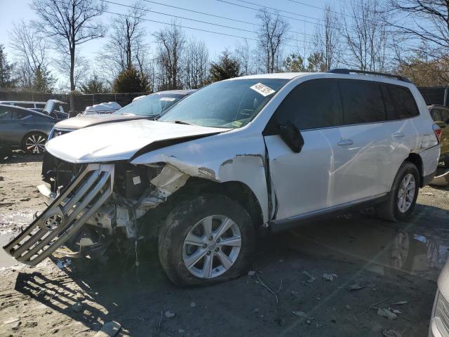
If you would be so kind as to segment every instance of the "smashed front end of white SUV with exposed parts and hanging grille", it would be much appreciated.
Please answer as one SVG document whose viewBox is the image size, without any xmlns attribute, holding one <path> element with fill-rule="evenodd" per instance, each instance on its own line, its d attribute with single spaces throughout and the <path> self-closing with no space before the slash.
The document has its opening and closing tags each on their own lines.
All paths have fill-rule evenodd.
<svg viewBox="0 0 449 337">
<path fill-rule="evenodd" d="M 61 246 L 69 255 L 102 253 L 114 239 L 138 239 L 138 219 L 154 209 L 189 176 L 168 164 L 134 166 L 58 161 L 49 189 L 39 191 L 48 208 L 4 246 L 18 261 L 36 265 Z"/>
</svg>

